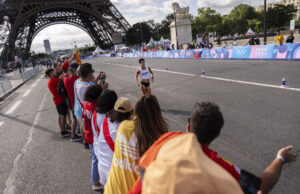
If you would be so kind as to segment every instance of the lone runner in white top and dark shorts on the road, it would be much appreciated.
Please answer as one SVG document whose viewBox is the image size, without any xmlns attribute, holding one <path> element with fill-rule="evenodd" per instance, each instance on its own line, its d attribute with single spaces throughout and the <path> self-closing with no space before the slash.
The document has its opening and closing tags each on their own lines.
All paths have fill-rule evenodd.
<svg viewBox="0 0 300 194">
<path fill-rule="evenodd" d="M 139 60 L 140 68 L 136 72 L 136 83 L 138 87 L 141 88 L 143 95 L 150 96 L 151 95 L 151 88 L 150 88 L 150 74 L 151 74 L 151 80 L 154 82 L 154 76 L 153 72 L 150 67 L 145 65 L 145 59 Z M 139 83 L 139 75 L 141 75 L 141 83 Z"/>
</svg>

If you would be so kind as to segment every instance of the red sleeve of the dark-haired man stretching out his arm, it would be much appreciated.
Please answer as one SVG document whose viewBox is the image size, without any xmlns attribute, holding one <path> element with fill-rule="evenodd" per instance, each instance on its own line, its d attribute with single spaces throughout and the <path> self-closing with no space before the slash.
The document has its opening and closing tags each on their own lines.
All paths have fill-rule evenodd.
<svg viewBox="0 0 300 194">
<path fill-rule="evenodd" d="M 207 157 L 215 161 L 217 164 L 223 167 L 227 172 L 229 172 L 229 174 L 231 174 L 237 181 L 239 181 L 240 173 L 237 171 L 237 168 L 233 164 L 231 164 L 230 162 L 228 162 L 222 157 L 218 157 L 218 153 L 209 149 L 207 146 L 203 146 L 202 150 Z"/>
</svg>

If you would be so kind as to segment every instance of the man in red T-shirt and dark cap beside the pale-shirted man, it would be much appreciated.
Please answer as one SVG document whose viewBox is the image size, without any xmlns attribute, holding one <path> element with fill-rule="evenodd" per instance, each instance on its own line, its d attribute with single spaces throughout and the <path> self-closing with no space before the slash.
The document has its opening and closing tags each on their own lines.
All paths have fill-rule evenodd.
<svg viewBox="0 0 300 194">
<path fill-rule="evenodd" d="M 76 142 L 76 141 L 82 140 L 82 138 L 80 136 L 75 134 L 77 120 L 76 120 L 76 116 L 74 115 L 74 101 L 75 101 L 74 83 L 79 78 L 79 76 L 77 76 L 77 68 L 78 68 L 78 64 L 72 63 L 69 66 L 70 76 L 66 77 L 64 79 L 64 85 L 65 85 L 66 91 L 68 93 L 69 101 L 70 101 L 69 108 L 72 111 L 72 115 L 73 115 L 73 120 L 72 120 L 72 124 L 71 124 L 71 139 L 70 139 L 71 142 Z"/>
</svg>

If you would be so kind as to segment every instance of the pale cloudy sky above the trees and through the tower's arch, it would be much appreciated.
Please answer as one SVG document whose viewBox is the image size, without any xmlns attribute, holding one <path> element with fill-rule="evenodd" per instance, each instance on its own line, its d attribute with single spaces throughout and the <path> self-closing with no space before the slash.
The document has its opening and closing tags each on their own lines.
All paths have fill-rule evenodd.
<svg viewBox="0 0 300 194">
<path fill-rule="evenodd" d="M 197 15 L 199 7 L 211 7 L 221 14 L 227 14 L 240 4 L 246 3 L 255 7 L 262 5 L 264 0 L 111 0 L 122 15 L 132 25 L 136 22 L 154 19 L 161 21 L 172 13 L 172 2 L 179 2 L 181 6 L 189 6 L 190 13 Z M 279 0 L 268 0 L 277 2 Z M 72 48 L 76 41 L 78 46 L 93 44 L 92 39 L 83 30 L 71 25 L 54 25 L 41 31 L 33 40 L 31 50 L 45 52 L 43 40 L 49 39 L 52 51 Z"/>
</svg>

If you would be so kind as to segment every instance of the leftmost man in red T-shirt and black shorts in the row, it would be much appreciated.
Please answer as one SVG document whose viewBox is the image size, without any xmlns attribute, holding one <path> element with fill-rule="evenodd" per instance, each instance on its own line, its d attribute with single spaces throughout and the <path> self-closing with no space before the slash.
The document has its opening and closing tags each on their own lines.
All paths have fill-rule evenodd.
<svg viewBox="0 0 300 194">
<path fill-rule="evenodd" d="M 45 72 L 46 76 L 49 77 L 48 81 L 48 88 L 53 95 L 53 101 L 56 106 L 56 110 L 58 112 L 58 125 L 60 128 L 60 136 L 61 137 L 68 137 L 70 133 L 65 130 L 66 124 L 66 115 L 68 114 L 68 108 L 65 103 L 65 99 L 61 97 L 57 91 L 59 77 L 56 77 L 56 73 L 54 69 L 48 69 Z"/>
</svg>

